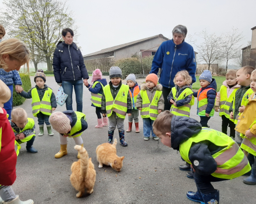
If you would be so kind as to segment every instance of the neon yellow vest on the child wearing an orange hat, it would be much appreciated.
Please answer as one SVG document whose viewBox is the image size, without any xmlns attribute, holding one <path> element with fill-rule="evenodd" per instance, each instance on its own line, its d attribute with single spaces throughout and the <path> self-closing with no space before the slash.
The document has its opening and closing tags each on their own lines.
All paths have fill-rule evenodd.
<svg viewBox="0 0 256 204">
<path fill-rule="evenodd" d="M 142 99 L 141 118 L 150 118 L 152 121 L 157 119 L 158 114 L 158 101 L 162 95 L 162 91 L 156 90 L 155 95 L 150 103 L 150 99 L 148 99 L 147 90 L 141 90 L 140 96 Z"/>
</svg>

